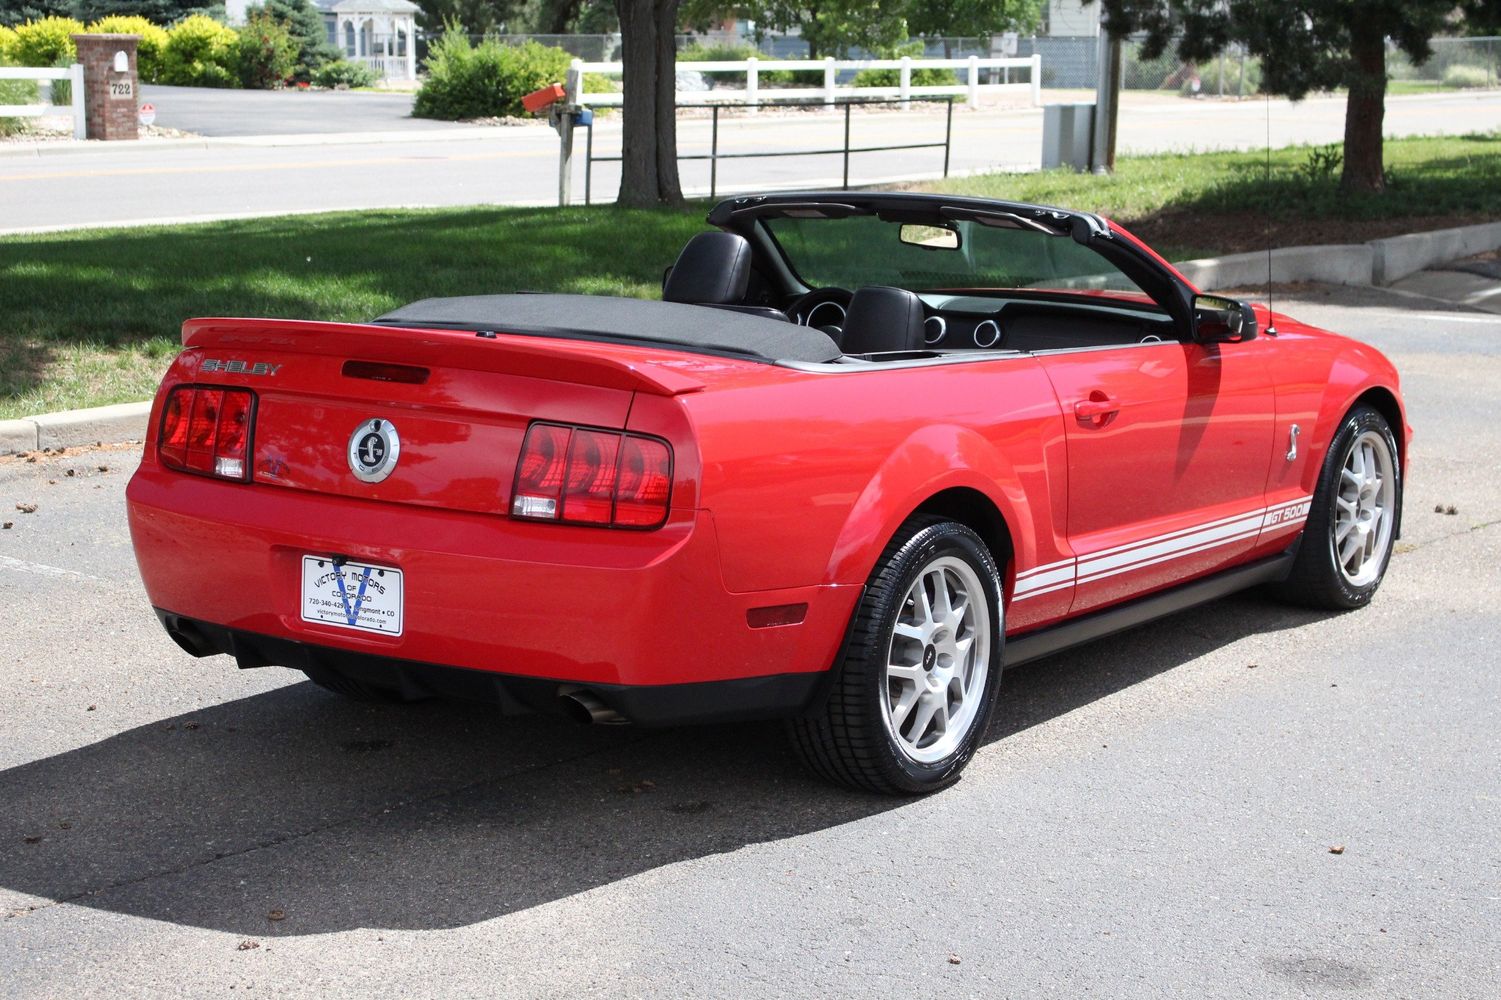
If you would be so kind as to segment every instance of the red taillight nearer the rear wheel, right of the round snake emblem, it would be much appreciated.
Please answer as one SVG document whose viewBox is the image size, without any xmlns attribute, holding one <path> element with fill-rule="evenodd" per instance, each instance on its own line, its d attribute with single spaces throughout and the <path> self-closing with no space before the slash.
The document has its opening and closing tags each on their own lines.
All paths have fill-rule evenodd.
<svg viewBox="0 0 1501 1000">
<path fill-rule="evenodd" d="M 672 449 L 639 434 L 533 423 L 510 495 L 516 518 L 659 527 L 672 495 Z"/>
</svg>

